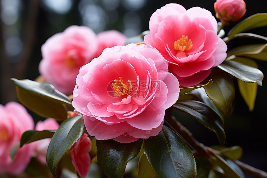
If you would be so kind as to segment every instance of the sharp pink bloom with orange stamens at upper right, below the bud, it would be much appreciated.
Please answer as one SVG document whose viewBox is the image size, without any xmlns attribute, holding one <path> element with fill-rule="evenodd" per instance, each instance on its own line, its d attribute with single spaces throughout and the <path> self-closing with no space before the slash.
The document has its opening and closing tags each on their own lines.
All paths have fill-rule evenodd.
<svg viewBox="0 0 267 178">
<path fill-rule="evenodd" d="M 217 35 L 217 21 L 200 7 L 186 10 L 167 4 L 152 14 L 149 29 L 146 44 L 163 55 L 183 87 L 199 84 L 226 58 L 227 46 Z"/>
</svg>

